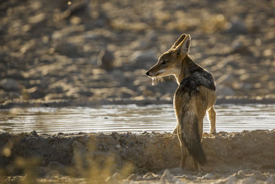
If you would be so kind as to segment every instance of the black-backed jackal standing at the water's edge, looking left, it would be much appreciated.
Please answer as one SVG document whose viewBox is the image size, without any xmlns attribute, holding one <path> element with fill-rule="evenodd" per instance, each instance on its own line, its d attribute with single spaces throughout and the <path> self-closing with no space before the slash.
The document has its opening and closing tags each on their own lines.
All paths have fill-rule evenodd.
<svg viewBox="0 0 275 184">
<path fill-rule="evenodd" d="M 157 63 L 146 72 L 152 78 L 174 75 L 179 87 L 174 96 L 177 117 L 177 133 L 181 145 L 181 168 L 184 168 L 188 152 L 192 155 L 195 169 L 206 163 L 201 147 L 203 117 L 208 112 L 210 132 L 216 132 L 216 88 L 212 75 L 188 56 L 190 35 L 182 34 L 172 48 L 164 52 Z"/>
</svg>

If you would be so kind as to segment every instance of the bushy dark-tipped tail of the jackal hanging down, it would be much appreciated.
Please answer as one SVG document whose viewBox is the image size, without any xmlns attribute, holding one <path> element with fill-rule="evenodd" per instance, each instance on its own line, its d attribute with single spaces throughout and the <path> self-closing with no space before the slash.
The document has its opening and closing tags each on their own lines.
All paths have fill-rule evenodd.
<svg viewBox="0 0 275 184">
<path fill-rule="evenodd" d="M 184 116 L 179 119 L 181 124 L 181 138 L 187 147 L 189 154 L 200 164 L 206 163 L 206 154 L 201 147 L 201 139 L 199 137 L 198 118 L 194 112 L 184 112 Z"/>
</svg>

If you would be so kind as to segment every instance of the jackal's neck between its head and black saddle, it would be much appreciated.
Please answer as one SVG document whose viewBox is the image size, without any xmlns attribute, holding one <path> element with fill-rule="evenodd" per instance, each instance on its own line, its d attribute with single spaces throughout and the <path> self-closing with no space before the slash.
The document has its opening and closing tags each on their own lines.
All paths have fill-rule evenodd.
<svg viewBox="0 0 275 184">
<path fill-rule="evenodd" d="M 181 62 L 181 71 L 176 75 L 177 84 L 179 85 L 180 81 L 186 76 L 190 76 L 192 73 L 203 70 L 195 61 L 190 59 L 188 55 L 184 57 L 184 60 Z"/>
</svg>

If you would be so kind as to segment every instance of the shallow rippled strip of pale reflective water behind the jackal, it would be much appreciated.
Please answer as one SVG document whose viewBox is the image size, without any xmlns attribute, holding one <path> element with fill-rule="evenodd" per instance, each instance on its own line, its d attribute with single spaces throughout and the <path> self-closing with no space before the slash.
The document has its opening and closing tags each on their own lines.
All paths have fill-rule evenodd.
<svg viewBox="0 0 275 184">
<path fill-rule="evenodd" d="M 275 129 L 275 105 L 215 105 L 217 132 Z M 203 131 L 209 132 L 207 117 Z M 103 105 L 99 108 L 12 108 L 0 110 L 0 132 L 172 132 L 173 105 Z"/>
</svg>

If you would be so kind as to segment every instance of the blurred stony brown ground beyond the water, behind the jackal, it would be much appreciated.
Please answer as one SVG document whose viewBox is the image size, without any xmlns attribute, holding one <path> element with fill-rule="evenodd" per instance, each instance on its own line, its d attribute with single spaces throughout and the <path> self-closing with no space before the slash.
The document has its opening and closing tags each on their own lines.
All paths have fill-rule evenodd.
<svg viewBox="0 0 275 184">
<path fill-rule="evenodd" d="M 275 1 L 0 1 L 0 103 L 171 101 L 144 75 L 181 34 L 219 99 L 275 99 Z"/>
</svg>

